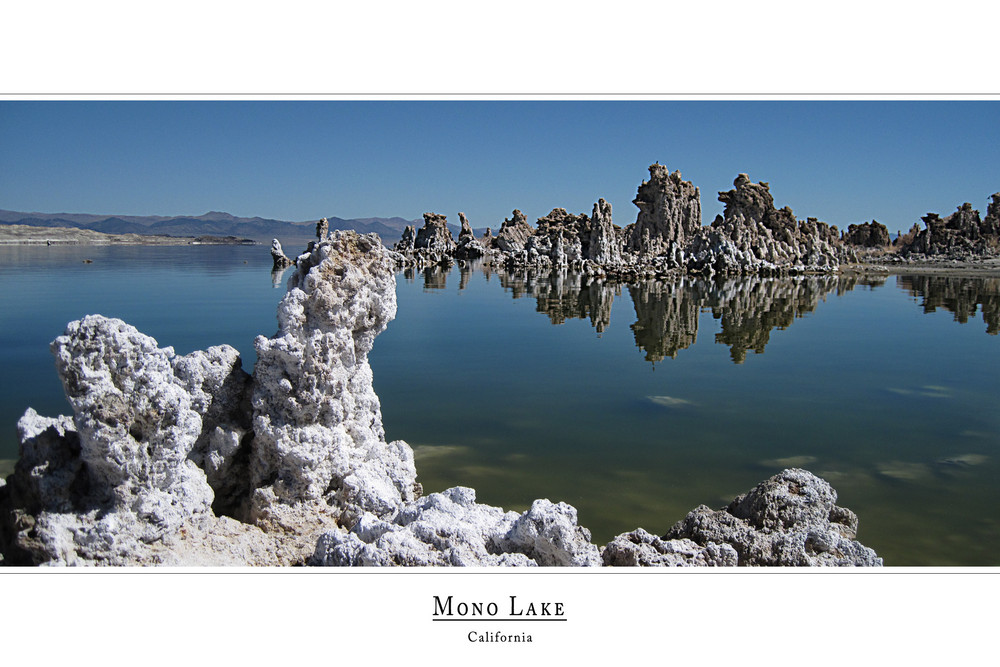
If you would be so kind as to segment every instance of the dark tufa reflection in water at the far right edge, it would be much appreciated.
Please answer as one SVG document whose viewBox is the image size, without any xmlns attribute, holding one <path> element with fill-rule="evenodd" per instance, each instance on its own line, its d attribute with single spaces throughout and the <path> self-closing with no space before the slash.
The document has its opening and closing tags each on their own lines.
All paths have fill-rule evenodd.
<svg viewBox="0 0 1000 667">
<path fill-rule="evenodd" d="M 986 333 L 1000 332 L 1000 278 L 959 278 L 954 276 L 897 276 L 896 284 L 910 296 L 922 299 L 925 313 L 939 307 L 955 314 L 965 324 L 982 306 Z"/>
</svg>

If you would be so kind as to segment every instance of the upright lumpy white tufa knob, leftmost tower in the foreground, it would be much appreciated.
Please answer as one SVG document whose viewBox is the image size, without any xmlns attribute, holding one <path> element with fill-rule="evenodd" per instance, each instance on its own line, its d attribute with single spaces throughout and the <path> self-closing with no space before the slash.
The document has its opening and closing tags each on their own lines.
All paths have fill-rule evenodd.
<svg viewBox="0 0 1000 667">
<path fill-rule="evenodd" d="M 164 532 L 205 512 L 212 492 L 190 460 L 202 421 L 171 361 L 173 348 L 121 320 L 88 315 L 52 343 L 75 413 L 91 495 L 119 500 Z M 184 503 L 174 497 L 184 497 Z"/>
</svg>

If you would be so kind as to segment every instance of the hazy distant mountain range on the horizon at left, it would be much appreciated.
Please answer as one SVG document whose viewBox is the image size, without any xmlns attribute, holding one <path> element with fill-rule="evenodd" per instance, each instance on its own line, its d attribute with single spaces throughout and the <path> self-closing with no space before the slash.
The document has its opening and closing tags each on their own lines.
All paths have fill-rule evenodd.
<svg viewBox="0 0 1000 667">
<path fill-rule="evenodd" d="M 423 219 L 327 217 L 330 229 L 353 229 L 362 234 L 375 232 L 382 243 L 392 246 L 407 225 L 423 226 Z M 0 209 L 0 223 L 32 227 L 75 227 L 106 234 L 158 234 L 166 236 L 238 236 L 260 243 L 278 239 L 291 252 L 316 238 L 317 220 L 289 222 L 269 218 L 238 218 L 229 213 L 209 211 L 198 216 L 93 215 L 89 213 L 21 213 Z M 460 227 L 448 225 L 458 238 Z M 477 236 L 483 230 L 477 231 Z"/>
</svg>

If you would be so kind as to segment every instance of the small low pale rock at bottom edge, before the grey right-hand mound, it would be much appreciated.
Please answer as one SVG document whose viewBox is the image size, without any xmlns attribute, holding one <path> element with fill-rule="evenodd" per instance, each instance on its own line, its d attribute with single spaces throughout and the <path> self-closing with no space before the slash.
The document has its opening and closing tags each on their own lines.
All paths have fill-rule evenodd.
<svg viewBox="0 0 1000 667">
<path fill-rule="evenodd" d="M 688 539 L 664 540 L 642 528 L 609 542 L 601 559 L 613 567 L 734 567 L 739 560 L 736 550 L 728 544 L 709 542 L 699 546 Z"/>
</svg>

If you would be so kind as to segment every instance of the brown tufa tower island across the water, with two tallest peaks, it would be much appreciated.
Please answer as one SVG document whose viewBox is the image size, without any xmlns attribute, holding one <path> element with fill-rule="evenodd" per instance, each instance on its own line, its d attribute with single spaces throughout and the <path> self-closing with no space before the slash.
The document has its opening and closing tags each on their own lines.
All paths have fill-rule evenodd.
<svg viewBox="0 0 1000 667">
<path fill-rule="evenodd" d="M 791 209 L 774 206 L 767 183 L 753 183 L 746 174 L 736 178 L 734 189 L 719 193 L 725 214 L 709 227 L 701 224 L 699 189 L 683 180 L 679 171 L 670 172 L 657 163 L 649 167 L 649 174 L 633 201 L 639 208 L 636 221 L 624 229 L 612 223 L 611 206 L 603 199 L 589 216 L 556 208 L 539 218 L 534 228 L 515 210 L 496 238 L 484 238 L 471 252 L 460 243 L 458 251 L 445 254 L 456 259 L 482 257 L 508 270 L 565 266 L 620 280 L 685 273 L 833 273 L 842 263 L 859 259 L 857 250 L 841 241 L 835 226 L 816 218 L 796 220 Z M 398 258 L 404 265 L 442 260 L 409 249 L 405 238 L 396 249 L 404 253 Z"/>
</svg>

